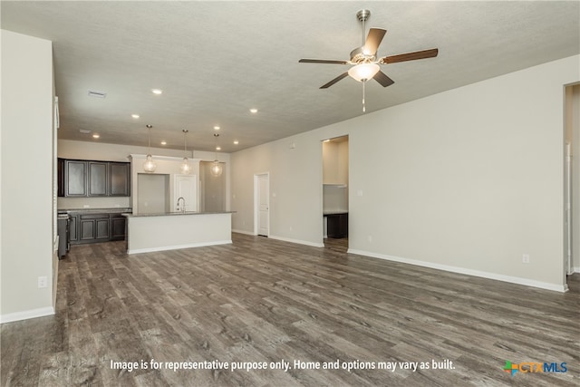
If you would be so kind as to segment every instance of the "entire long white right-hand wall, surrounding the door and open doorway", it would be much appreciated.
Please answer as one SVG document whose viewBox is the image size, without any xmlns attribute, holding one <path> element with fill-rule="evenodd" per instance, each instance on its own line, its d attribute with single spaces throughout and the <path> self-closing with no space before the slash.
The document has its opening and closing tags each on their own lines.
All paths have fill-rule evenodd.
<svg viewBox="0 0 580 387">
<path fill-rule="evenodd" d="M 271 233 L 320 242 L 319 141 L 348 134 L 353 252 L 563 290 L 563 85 L 579 58 L 234 153 L 233 227 L 253 229 L 251 177 L 269 171 Z"/>
</svg>

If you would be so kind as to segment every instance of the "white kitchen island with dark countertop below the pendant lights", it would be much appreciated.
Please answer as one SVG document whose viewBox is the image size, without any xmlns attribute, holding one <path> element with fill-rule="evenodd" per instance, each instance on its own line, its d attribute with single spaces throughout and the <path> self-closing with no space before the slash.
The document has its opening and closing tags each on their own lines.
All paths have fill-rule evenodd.
<svg viewBox="0 0 580 387">
<path fill-rule="evenodd" d="M 232 243 L 232 211 L 123 214 L 127 254 Z"/>
</svg>

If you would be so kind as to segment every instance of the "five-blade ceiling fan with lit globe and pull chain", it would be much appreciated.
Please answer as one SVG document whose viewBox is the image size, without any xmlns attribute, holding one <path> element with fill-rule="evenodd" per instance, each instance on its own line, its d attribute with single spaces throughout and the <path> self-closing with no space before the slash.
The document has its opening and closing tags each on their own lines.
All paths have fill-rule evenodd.
<svg viewBox="0 0 580 387">
<path fill-rule="evenodd" d="M 400 53 L 397 55 L 384 56 L 377 58 L 377 50 L 382 42 L 387 30 L 382 28 L 371 28 L 366 39 L 364 39 L 364 22 L 369 19 L 371 11 L 362 9 L 356 13 L 356 17 L 362 23 L 362 46 L 355 48 L 351 52 L 351 59 L 348 61 L 335 61 L 325 59 L 301 59 L 299 63 L 329 63 L 329 64 L 350 64 L 353 65 L 347 72 L 340 74 L 332 81 L 324 83 L 320 88 L 327 89 L 334 83 L 350 75 L 358 82 L 362 82 L 362 111 L 364 111 L 364 83 L 370 79 L 382 84 L 383 87 L 391 86 L 394 83 L 387 74 L 382 73 L 380 64 L 399 63 L 415 61 L 417 59 L 433 58 L 439 53 L 439 49 L 416 51 L 413 53 Z"/>
</svg>

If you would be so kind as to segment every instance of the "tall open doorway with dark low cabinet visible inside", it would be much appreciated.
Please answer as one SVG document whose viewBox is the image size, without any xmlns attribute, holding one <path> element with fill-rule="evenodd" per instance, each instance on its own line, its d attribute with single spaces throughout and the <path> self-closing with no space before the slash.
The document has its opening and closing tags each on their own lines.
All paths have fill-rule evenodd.
<svg viewBox="0 0 580 387">
<path fill-rule="evenodd" d="M 349 151 L 348 136 L 323 140 L 324 247 L 348 249 Z"/>
</svg>

